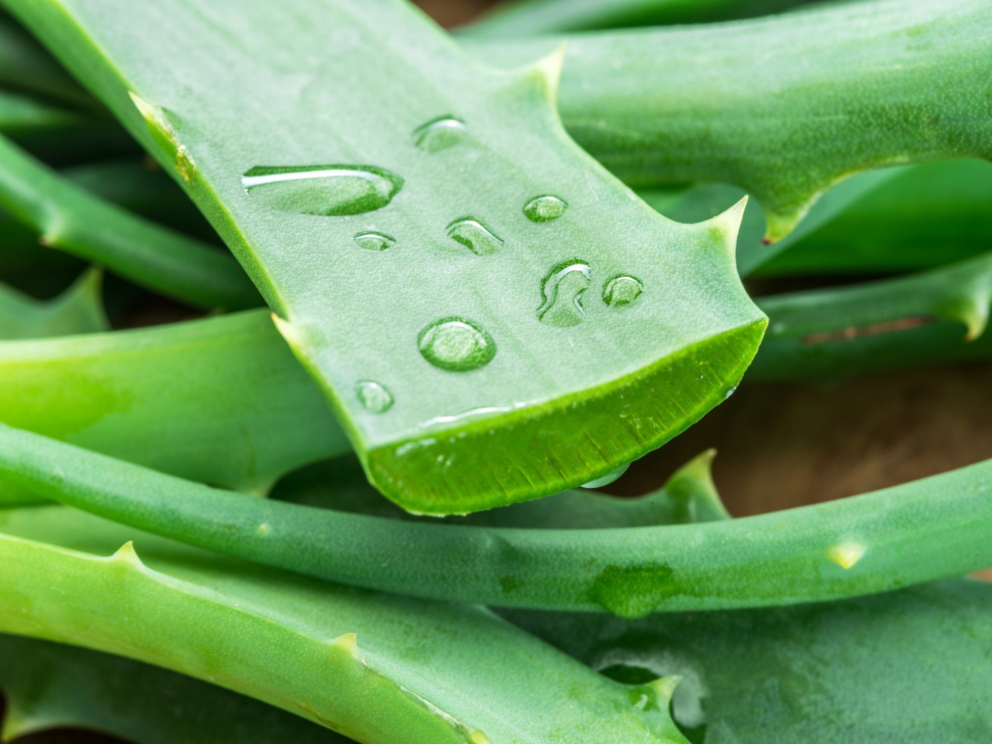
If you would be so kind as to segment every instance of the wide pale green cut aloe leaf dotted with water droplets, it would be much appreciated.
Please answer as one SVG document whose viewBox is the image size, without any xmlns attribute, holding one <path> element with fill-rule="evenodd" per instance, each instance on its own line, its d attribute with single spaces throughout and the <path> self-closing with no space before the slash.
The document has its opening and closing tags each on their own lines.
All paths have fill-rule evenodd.
<svg viewBox="0 0 992 744">
<path fill-rule="evenodd" d="M 721 401 L 760 340 L 739 209 L 680 225 L 620 186 L 560 129 L 558 57 L 495 71 L 383 0 L 211 6 L 236 35 L 181 0 L 7 5 L 211 219 L 408 510 L 601 477 Z M 534 221 L 548 196 L 566 208 Z M 622 275 L 635 303 L 603 297 Z"/>
</svg>

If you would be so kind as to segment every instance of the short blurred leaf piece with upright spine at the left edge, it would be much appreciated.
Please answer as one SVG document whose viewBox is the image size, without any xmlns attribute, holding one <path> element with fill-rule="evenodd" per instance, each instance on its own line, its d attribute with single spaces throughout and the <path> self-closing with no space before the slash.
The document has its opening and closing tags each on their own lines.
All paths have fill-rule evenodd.
<svg viewBox="0 0 992 744">
<path fill-rule="evenodd" d="M 58 298 L 39 301 L 0 285 L 0 338 L 42 338 L 109 330 L 100 272 L 89 270 Z"/>
</svg>

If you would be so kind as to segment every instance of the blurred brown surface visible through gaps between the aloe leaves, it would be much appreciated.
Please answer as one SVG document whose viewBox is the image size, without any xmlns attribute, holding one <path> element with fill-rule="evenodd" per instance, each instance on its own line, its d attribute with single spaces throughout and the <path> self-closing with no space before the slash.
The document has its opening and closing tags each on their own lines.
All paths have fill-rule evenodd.
<svg viewBox="0 0 992 744">
<path fill-rule="evenodd" d="M 446 26 L 488 0 L 421 0 Z M 713 477 L 737 517 L 864 493 L 992 457 L 992 365 L 940 367 L 832 385 L 747 385 L 699 424 L 634 463 L 609 491 L 658 487 L 708 447 Z M 992 568 L 983 572 L 992 580 Z M 52 731 L 19 744 L 112 744 Z"/>
</svg>

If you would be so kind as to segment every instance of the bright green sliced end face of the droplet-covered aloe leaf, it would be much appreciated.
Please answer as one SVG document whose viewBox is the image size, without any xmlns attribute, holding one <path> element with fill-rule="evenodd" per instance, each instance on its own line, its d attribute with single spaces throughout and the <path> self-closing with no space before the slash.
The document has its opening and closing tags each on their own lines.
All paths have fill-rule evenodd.
<svg viewBox="0 0 992 744">
<path fill-rule="evenodd" d="M 599 389 L 372 449 L 369 478 L 404 509 L 436 515 L 581 485 L 662 445 L 722 402 L 765 324 L 761 319 L 717 334 Z M 708 478 L 709 459 L 694 460 L 682 477 L 706 470 Z"/>
</svg>

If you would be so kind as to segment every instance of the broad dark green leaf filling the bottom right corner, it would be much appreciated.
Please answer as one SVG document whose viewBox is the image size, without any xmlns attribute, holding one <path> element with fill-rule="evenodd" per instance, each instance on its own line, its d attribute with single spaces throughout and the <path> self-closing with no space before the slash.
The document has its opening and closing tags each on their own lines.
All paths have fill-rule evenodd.
<svg viewBox="0 0 992 744">
<path fill-rule="evenodd" d="M 798 607 L 665 615 L 515 611 L 512 621 L 628 682 L 682 677 L 686 737 L 742 742 L 992 738 L 992 586 L 954 579 Z"/>
</svg>

